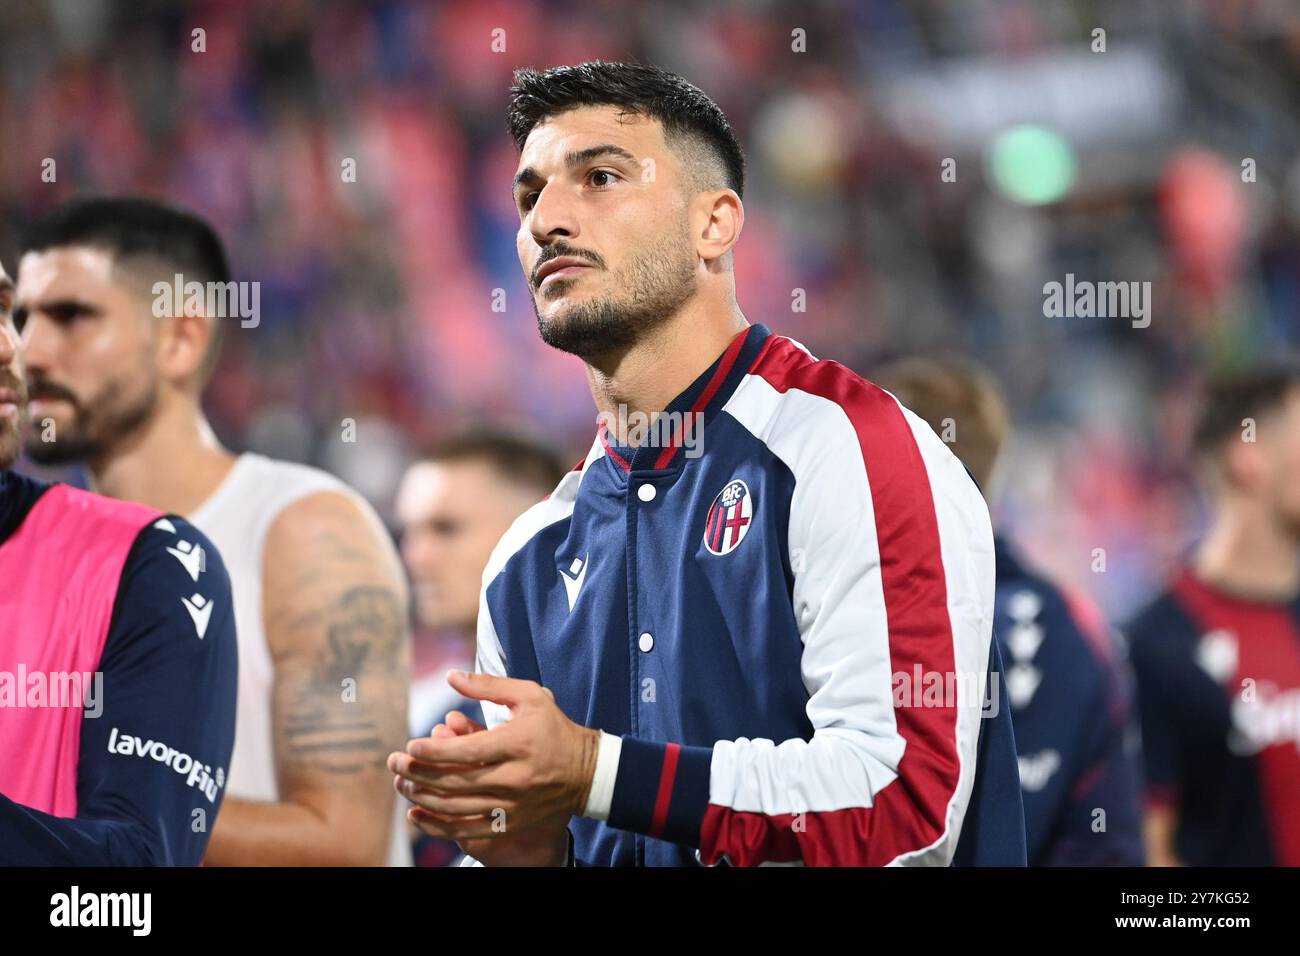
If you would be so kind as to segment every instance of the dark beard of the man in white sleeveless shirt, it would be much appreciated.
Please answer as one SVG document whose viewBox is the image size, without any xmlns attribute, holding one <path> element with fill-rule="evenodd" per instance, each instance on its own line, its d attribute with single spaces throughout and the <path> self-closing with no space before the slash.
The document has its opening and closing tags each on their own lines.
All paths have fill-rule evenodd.
<svg viewBox="0 0 1300 956">
<path fill-rule="evenodd" d="M 110 382 L 83 403 L 62 385 L 32 378 L 31 398 L 61 398 L 72 406 L 72 416 L 62 425 L 55 425 L 46 440 L 44 421 L 29 421 L 27 457 L 38 464 L 72 464 L 95 462 L 108 455 L 112 447 L 143 425 L 157 406 L 157 381 L 150 371 L 143 392 L 129 395 L 124 381 Z"/>
</svg>

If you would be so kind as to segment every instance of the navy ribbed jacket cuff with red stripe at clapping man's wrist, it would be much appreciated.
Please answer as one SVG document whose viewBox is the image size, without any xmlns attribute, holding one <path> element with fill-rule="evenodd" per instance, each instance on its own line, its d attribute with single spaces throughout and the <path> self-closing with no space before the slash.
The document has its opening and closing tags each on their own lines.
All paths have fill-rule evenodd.
<svg viewBox="0 0 1300 956">
<path fill-rule="evenodd" d="M 604 754 L 602 747 L 597 760 L 598 778 L 599 761 Z M 610 826 L 698 847 L 699 827 L 708 809 L 712 758 L 711 747 L 660 744 L 624 736 L 618 749 L 618 771 L 607 818 Z"/>
</svg>

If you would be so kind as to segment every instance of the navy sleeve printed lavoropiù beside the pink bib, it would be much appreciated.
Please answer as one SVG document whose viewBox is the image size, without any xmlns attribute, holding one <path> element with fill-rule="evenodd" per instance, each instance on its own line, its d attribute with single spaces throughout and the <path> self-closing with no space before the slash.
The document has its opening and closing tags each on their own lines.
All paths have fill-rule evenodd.
<svg viewBox="0 0 1300 956">
<path fill-rule="evenodd" d="M 235 654 L 216 548 L 179 518 L 151 524 L 122 570 L 101 700 L 82 718 L 77 816 L 0 795 L 0 864 L 196 866 L 234 745 Z"/>
</svg>

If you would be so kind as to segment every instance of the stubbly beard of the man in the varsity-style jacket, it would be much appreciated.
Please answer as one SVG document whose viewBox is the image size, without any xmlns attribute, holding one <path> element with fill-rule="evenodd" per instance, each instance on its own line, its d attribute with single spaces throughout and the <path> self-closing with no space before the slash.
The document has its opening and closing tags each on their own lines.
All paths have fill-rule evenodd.
<svg viewBox="0 0 1300 956">
<path fill-rule="evenodd" d="M 578 273 L 572 278 L 555 280 L 547 291 L 558 293 L 564 284 L 576 284 L 582 278 Z M 568 306 L 555 319 L 542 319 L 534 295 L 533 311 L 537 312 L 537 330 L 542 341 L 585 359 L 633 346 L 672 319 L 696 294 L 696 259 L 685 232 L 676 239 L 664 239 L 645 250 L 619 273 L 619 278 L 621 295 Z"/>
</svg>

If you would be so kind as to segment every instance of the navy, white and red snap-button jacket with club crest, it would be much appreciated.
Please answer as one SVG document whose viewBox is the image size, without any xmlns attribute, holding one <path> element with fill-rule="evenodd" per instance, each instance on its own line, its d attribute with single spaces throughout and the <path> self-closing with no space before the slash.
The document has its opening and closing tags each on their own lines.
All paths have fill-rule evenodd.
<svg viewBox="0 0 1300 956">
<path fill-rule="evenodd" d="M 478 669 L 604 732 L 576 862 L 1023 865 L 962 464 L 762 325 L 659 421 L 637 447 L 601 428 L 484 576 Z"/>
</svg>

